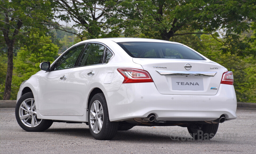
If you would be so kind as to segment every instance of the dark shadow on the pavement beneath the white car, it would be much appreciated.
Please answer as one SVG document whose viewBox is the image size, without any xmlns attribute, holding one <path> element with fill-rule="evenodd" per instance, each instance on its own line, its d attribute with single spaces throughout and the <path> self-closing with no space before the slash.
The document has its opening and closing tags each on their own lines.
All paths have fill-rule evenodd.
<svg viewBox="0 0 256 154">
<path fill-rule="evenodd" d="M 91 134 L 89 128 L 49 128 L 45 132 L 53 133 L 56 135 L 69 135 L 73 137 L 85 137 L 91 140 L 95 140 Z M 116 136 L 111 141 L 121 141 L 121 142 L 133 142 L 133 143 L 181 143 L 181 142 L 190 142 L 190 143 L 225 143 L 232 142 L 229 140 L 194 140 L 191 136 L 186 134 L 175 136 L 175 134 L 164 134 L 163 132 L 138 132 L 136 130 L 128 131 L 118 131 Z"/>
</svg>

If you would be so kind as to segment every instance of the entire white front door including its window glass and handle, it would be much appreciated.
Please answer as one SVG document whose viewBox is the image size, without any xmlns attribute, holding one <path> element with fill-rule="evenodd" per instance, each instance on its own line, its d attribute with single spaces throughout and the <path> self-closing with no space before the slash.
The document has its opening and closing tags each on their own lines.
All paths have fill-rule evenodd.
<svg viewBox="0 0 256 154">
<path fill-rule="evenodd" d="M 38 86 L 38 106 L 42 115 L 69 115 L 67 111 L 66 82 L 69 72 L 74 68 L 85 44 L 81 44 L 66 51 L 58 61 L 52 65 L 50 72 L 45 72 Z"/>
</svg>

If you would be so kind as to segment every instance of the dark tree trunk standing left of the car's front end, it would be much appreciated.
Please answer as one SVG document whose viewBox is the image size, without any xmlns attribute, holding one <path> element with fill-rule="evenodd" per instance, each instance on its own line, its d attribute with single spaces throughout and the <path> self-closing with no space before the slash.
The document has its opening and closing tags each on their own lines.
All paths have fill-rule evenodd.
<svg viewBox="0 0 256 154">
<path fill-rule="evenodd" d="M 13 77 L 13 47 L 14 43 L 8 44 L 7 74 L 5 79 L 5 92 L 3 94 L 3 100 L 9 100 L 11 96 L 11 80 Z"/>
</svg>

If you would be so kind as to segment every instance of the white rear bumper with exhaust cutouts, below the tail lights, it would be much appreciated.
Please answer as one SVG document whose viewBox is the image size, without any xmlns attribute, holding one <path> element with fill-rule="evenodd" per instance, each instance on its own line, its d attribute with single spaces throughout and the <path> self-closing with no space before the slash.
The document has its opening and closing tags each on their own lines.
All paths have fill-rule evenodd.
<svg viewBox="0 0 256 154">
<path fill-rule="evenodd" d="M 222 114 L 236 119 L 234 86 L 221 84 L 216 95 L 163 95 L 152 83 L 122 84 L 118 91 L 104 92 L 110 121 L 144 118 L 157 120 L 215 120 Z"/>
</svg>

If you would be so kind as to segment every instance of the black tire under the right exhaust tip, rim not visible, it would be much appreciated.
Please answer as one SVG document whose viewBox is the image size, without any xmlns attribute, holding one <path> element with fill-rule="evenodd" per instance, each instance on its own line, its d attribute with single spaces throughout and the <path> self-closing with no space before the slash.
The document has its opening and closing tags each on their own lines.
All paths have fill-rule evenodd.
<svg viewBox="0 0 256 154">
<path fill-rule="evenodd" d="M 209 140 L 215 136 L 219 127 L 217 124 L 198 124 L 191 127 L 187 127 L 189 134 L 195 140 Z"/>
</svg>

